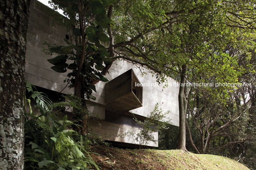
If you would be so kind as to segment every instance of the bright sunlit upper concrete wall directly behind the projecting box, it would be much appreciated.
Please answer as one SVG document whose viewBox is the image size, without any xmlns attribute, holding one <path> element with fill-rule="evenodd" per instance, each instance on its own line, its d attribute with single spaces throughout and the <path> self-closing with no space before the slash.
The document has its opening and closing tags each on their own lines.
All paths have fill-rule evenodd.
<svg viewBox="0 0 256 170">
<path fill-rule="evenodd" d="M 146 75 L 141 75 L 141 71 L 137 66 L 127 62 L 127 61 L 116 61 L 113 63 L 111 68 L 109 69 L 109 74 L 106 77 L 109 80 L 121 75 L 129 69 L 133 69 L 134 73 L 138 77 L 141 84 L 150 84 L 156 82 L 156 77 L 147 71 L 144 68 L 144 71 L 147 73 Z M 171 86 L 172 83 L 177 84 L 175 80 L 171 77 L 168 77 L 168 84 L 170 86 L 163 87 L 160 86 L 144 86 L 143 87 L 143 96 L 142 96 L 142 107 L 131 110 L 130 112 L 145 116 L 149 115 L 149 113 L 153 110 L 156 103 L 160 105 L 163 112 L 170 111 L 168 114 L 168 118 L 171 119 L 171 122 L 179 126 L 179 102 L 178 102 L 178 94 L 179 94 L 179 86 Z M 105 104 L 105 82 L 99 82 L 96 84 L 97 93 L 93 95 L 96 96 L 96 103 Z"/>
</svg>

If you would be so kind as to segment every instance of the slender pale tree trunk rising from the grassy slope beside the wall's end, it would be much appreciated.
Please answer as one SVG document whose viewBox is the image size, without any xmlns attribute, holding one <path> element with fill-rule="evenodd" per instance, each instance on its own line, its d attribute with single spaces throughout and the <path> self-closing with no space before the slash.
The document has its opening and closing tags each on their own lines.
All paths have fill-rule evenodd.
<svg viewBox="0 0 256 170">
<path fill-rule="evenodd" d="M 177 149 L 186 151 L 186 112 L 187 112 L 187 99 L 186 99 L 186 86 L 184 85 L 187 81 L 186 79 L 187 66 L 181 66 L 181 84 L 179 90 L 179 115 L 180 115 L 180 125 L 179 125 L 179 142 Z M 183 85 L 182 85 L 183 84 Z"/>
</svg>

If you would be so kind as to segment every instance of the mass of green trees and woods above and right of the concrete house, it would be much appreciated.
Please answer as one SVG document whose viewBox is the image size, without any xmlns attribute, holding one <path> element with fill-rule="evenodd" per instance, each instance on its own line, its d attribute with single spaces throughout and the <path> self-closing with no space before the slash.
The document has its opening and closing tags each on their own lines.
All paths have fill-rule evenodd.
<svg viewBox="0 0 256 170">
<path fill-rule="evenodd" d="M 256 122 L 255 1 L 52 2 L 74 20 L 76 44 L 68 41 L 57 48 L 76 58 L 70 76 L 75 76 L 77 96 L 83 98 L 85 88 L 90 98 L 94 83 L 119 58 L 148 67 L 159 82 L 171 76 L 180 83 L 252 83 L 241 88 L 185 86 L 179 92 L 179 149 L 186 150 L 187 136 L 189 148 L 197 153 L 241 161 L 250 152 Z M 65 59 L 62 64 L 68 68 Z M 89 72 L 83 72 L 88 66 Z M 79 87 L 77 82 L 84 81 L 88 84 Z"/>
</svg>

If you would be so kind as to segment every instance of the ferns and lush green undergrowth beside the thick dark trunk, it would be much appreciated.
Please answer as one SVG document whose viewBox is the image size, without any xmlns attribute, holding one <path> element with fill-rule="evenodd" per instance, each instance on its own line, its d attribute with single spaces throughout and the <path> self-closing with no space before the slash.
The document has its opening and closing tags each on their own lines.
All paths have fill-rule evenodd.
<svg viewBox="0 0 256 170">
<path fill-rule="evenodd" d="M 89 155 L 90 140 L 87 135 L 78 134 L 70 129 L 71 125 L 79 126 L 67 119 L 64 112 L 56 108 L 79 107 L 81 101 L 74 96 L 67 96 L 70 102 L 52 104 L 42 92 L 36 91 L 27 83 L 29 96 L 24 108 L 25 129 L 25 169 L 26 170 L 89 170 L 92 166 L 98 170 L 96 163 Z M 34 100 L 36 105 L 31 106 Z M 80 112 L 83 107 L 79 107 Z M 55 111 L 54 111 L 55 110 Z"/>
</svg>

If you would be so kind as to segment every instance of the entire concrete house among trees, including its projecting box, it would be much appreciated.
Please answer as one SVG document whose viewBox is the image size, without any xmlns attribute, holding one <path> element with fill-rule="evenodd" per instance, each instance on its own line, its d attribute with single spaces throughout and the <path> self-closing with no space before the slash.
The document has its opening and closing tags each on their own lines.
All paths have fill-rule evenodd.
<svg viewBox="0 0 256 170">
<path fill-rule="evenodd" d="M 30 18 L 27 33 L 27 50 L 25 75 L 27 81 L 33 85 L 63 94 L 72 94 L 73 89 L 64 88 L 66 74 L 54 72 L 47 56 L 42 50 L 43 42 L 66 45 L 66 28 L 61 25 L 61 19 L 56 21 L 52 9 L 44 6 L 37 0 L 31 0 Z M 95 101 L 88 102 L 89 110 L 97 115 L 99 120 L 91 123 L 91 130 L 102 136 L 104 140 L 138 144 L 130 137 L 120 137 L 127 131 L 138 132 L 138 125 L 133 121 L 134 113 L 144 119 L 153 110 L 156 103 L 164 112 L 170 111 L 168 118 L 175 126 L 179 126 L 178 86 L 158 86 L 156 78 L 147 68 L 141 75 L 141 70 L 127 61 L 115 61 L 106 75 L 109 82 L 96 84 Z M 141 83 L 146 86 L 138 86 Z M 168 83 L 177 82 L 168 77 Z M 98 124 L 101 124 L 99 126 Z M 158 132 L 154 133 L 155 140 Z M 150 142 L 149 146 L 157 147 L 158 142 Z"/>
</svg>

